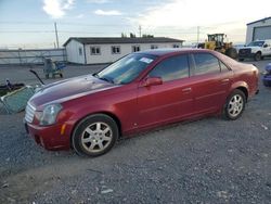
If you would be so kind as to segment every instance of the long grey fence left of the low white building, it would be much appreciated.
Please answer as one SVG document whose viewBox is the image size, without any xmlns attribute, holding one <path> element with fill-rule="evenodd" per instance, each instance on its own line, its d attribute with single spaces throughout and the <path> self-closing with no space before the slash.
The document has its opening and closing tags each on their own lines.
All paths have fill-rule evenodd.
<svg viewBox="0 0 271 204">
<path fill-rule="evenodd" d="M 66 62 L 65 49 L 0 50 L 0 65 L 43 64 L 44 58 Z"/>
</svg>

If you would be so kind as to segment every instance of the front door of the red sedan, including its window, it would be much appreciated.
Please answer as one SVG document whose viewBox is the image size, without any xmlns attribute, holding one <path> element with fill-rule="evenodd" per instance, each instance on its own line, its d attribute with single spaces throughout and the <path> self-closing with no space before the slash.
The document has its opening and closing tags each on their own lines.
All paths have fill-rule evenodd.
<svg viewBox="0 0 271 204">
<path fill-rule="evenodd" d="M 165 59 L 149 73 L 146 78 L 162 77 L 163 84 L 139 87 L 139 127 L 175 120 L 191 114 L 194 104 L 189 76 L 186 54 Z"/>
</svg>

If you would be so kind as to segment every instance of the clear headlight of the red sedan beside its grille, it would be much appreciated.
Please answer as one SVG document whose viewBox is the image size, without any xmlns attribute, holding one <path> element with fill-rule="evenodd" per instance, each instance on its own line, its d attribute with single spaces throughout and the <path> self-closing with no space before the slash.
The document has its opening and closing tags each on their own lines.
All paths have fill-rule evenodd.
<svg viewBox="0 0 271 204">
<path fill-rule="evenodd" d="M 42 126 L 52 125 L 55 123 L 61 110 L 61 104 L 50 104 L 47 105 L 42 112 L 36 112 L 36 117 Z"/>
</svg>

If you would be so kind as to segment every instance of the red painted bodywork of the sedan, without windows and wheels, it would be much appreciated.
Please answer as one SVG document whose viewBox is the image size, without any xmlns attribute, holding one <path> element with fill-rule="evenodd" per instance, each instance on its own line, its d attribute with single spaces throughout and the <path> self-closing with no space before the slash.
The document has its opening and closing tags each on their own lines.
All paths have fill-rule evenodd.
<svg viewBox="0 0 271 204">
<path fill-rule="evenodd" d="M 177 54 L 211 53 L 229 72 L 191 76 L 144 87 L 147 73 L 160 61 Z M 120 123 L 124 137 L 168 123 L 221 113 L 227 97 L 236 88 L 247 89 L 248 97 L 258 90 L 258 69 L 208 50 L 152 51 L 158 55 L 132 82 L 113 85 L 92 76 L 52 84 L 30 99 L 37 111 L 49 103 L 61 103 L 56 124 L 42 127 L 36 119 L 27 124 L 29 133 L 48 150 L 70 148 L 70 137 L 78 122 L 88 115 L 105 113 Z M 66 124 L 63 135 L 61 127 Z"/>
</svg>

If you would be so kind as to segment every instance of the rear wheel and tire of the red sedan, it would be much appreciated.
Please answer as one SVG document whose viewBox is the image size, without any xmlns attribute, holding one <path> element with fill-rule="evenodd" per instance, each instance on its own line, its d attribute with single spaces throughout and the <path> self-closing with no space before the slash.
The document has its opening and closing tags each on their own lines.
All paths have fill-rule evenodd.
<svg viewBox="0 0 271 204">
<path fill-rule="evenodd" d="M 235 89 L 227 99 L 223 110 L 225 119 L 235 120 L 245 110 L 246 95 L 243 91 Z"/>
</svg>

